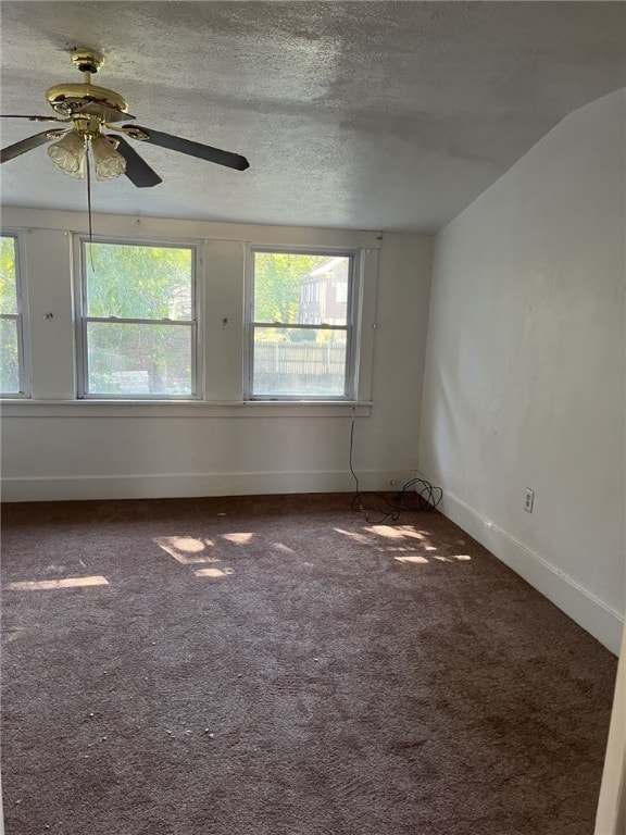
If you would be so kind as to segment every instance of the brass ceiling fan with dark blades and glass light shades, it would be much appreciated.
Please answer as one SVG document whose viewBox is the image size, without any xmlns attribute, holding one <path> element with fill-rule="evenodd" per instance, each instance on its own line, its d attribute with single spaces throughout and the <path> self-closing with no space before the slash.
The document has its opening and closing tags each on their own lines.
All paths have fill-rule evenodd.
<svg viewBox="0 0 626 835">
<path fill-rule="evenodd" d="M 128 113 L 128 104 L 117 92 L 91 84 L 91 75 L 104 63 L 103 55 L 91 49 L 75 49 L 72 61 L 83 73 L 83 84 L 59 84 L 51 87 L 46 97 L 57 116 L 4 115 L 4 119 L 27 119 L 30 122 L 59 122 L 63 127 L 49 128 L 10 145 L 0 151 L 0 162 L 8 162 L 26 151 L 53 141 L 48 155 L 53 164 L 73 177 L 89 177 L 89 150 L 98 179 L 112 179 L 125 174 L 139 188 L 156 186 L 163 180 L 126 141 L 136 139 L 158 145 L 171 151 L 197 157 L 206 162 L 246 171 L 249 162 L 245 157 L 223 151 L 178 136 L 138 125 L 120 125 L 135 119 Z M 112 130 L 104 133 L 104 130 Z"/>
</svg>

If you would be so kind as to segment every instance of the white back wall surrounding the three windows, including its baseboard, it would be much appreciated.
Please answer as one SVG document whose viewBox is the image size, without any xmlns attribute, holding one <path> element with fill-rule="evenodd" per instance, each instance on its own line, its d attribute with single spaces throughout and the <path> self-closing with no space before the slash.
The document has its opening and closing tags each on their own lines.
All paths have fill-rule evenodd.
<svg viewBox="0 0 626 835">
<path fill-rule="evenodd" d="M 363 362 L 372 374 L 371 392 L 361 394 L 367 401 L 371 395 L 372 404 L 355 407 L 354 468 L 364 489 L 383 489 L 391 478 L 403 483 L 415 475 L 430 238 L 97 215 L 95 228 L 103 234 L 206 241 L 209 399 L 121 404 L 74 400 L 71 238 L 73 230 L 84 230 L 85 217 L 5 209 L 2 223 L 29 229 L 34 392 L 30 401 L 2 407 L 4 500 L 353 488 L 351 406 L 241 402 L 246 241 L 366 249 L 371 292 L 363 315 Z M 52 319 L 43 319 L 48 312 Z M 225 316 L 228 328 L 221 324 Z"/>
</svg>

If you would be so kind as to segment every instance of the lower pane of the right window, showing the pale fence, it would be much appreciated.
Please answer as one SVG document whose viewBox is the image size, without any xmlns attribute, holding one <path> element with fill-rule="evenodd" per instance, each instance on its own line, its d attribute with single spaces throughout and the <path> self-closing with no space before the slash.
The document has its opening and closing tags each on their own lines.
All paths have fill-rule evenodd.
<svg viewBox="0 0 626 835">
<path fill-rule="evenodd" d="M 346 388 L 346 332 L 254 328 L 254 395 L 326 395 Z"/>
</svg>

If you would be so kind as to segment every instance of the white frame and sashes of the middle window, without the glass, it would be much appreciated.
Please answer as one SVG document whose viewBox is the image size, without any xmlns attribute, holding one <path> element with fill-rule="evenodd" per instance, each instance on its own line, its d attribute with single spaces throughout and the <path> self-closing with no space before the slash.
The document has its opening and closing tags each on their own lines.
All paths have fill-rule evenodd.
<svg viewBox="0 0 626 835">
<path fill-rule="evenodd" d="M 162 249 L 190 249 L 191 250 L 191 315 L 192 320 L 176 322 L 173 320 L 159 319 L 125 319 L 125 317 L 100 317 L 87 315 L 87 271 L 85 270 L 85 245 L 112 244 L 117 246 L 137 246 L 137 247 L 156 247 Z M 200 312 L 201 288 L 199 282 L 199 265 L 202 263 L 201 241 L 198 240 L 171 240 L 166 238 L 126 238 L 122 236 L 74 236 L 74 263 L 76 265 L 76 292 L 75 292 L 75 320 L 76 320 L 76 397 L 80 400 L 161 400 L 161 401 L 185 401 L 201 400 L 203 397 L 203 375 L 202 375 L 202 351 L 200 349 L 202 321 Z M 191 327 L 191 394 L 189 395 L 164 395 L 164 394 L 141 394 L 128 391 L 124 394 L 110 394 L 89 391 L 89 367 L 88 367 L 88 339 L 87 324 L 89 322 L 120 322 L 124 324 L 139 325 L 163 325 L 163 326 L 184 326 Z"/>
</svg>

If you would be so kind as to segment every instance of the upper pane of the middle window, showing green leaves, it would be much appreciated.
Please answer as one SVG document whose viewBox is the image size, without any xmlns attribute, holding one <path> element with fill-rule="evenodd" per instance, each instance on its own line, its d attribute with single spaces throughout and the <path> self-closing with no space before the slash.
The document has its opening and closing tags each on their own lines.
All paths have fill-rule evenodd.
<svg viewBox="0 0 626 835">
<path fill-rule="evenodd" d="M 87 315 L 189 321 L 191 256 L 189 248 L 86 242 Z"/>
</svg>

